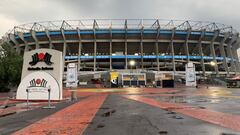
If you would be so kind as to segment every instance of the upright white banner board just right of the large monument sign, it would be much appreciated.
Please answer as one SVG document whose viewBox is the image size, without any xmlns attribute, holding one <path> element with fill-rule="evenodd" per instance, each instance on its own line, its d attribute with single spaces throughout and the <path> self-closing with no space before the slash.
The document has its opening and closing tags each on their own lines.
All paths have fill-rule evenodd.
<svg viewBox="0 0 240 135">
<path fill-rule="evenodd" d="M 67 66 L 67 84 L 66 87 L 77 87 L 77 65 L 69 63 Z"/>
</svg>

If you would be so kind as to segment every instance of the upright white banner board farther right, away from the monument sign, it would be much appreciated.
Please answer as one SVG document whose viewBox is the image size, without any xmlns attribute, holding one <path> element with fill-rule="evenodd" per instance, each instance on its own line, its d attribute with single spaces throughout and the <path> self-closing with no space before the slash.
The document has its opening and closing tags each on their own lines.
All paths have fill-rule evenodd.
<svg viewBox="0 0 240 135">
<path fill-rule="evenodd" d="M 193 63 L 187 63 L 186 69 L 186 86 L 196 86 L 196 72 L 195 65 Z"/>
</svg>

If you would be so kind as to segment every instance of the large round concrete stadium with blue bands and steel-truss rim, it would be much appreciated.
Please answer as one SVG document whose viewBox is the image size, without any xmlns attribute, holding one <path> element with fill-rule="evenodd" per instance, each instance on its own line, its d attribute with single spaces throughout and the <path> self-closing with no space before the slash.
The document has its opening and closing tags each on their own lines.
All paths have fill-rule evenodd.
<svg viewBox="0 0 240 135">
<path fill-rule="evenodd" d="M 192 62 L 198 77 L 239 73 L 239 33 L 214 22 L 160 19 L 86 19 L 15 26 L 7 41 L 16 51 L 50 48 L 63 52 L 79 75 L 154 73 L 185 75 Z M 133 64 L 131 64 L 131 62 Z M 145 79 L 146 80 L 146 79 Z"/>
</svg>

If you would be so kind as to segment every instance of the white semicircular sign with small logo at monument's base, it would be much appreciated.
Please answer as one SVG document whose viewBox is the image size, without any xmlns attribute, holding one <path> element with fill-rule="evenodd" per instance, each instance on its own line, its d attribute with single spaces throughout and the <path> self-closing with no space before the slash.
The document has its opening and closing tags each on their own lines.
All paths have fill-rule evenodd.
<svg viewBox="0 0 240 135">
<path fill-rule="evenodd" d="M 27 75 L 18 86 L 17 97 L 19 100 L 48 100 L 48 89 L 51 89 L 50 99 L 61 99 L 61 90 L 58 82 L 49 73 L 38 71 Z"/>
</svg>

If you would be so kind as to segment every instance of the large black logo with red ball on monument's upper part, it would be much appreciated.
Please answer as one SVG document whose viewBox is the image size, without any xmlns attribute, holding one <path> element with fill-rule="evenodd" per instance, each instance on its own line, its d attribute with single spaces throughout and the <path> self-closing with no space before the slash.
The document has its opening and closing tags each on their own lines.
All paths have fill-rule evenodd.
<svg viewBox="0 0 240 135">
<path fill-rule="evenodd" d="M 53 62 L 51 62 L 51 58 L 52 58 L 52 55 L 51 54 L 49 54 L 49 53 L 35 53 L 35 54 L 33 54 L 32 55 L 32 61 L 31 62 L 29 62 L 29 64 L 31 65 L 31 66 L 34 66 L 34 65 L 36 65 L 38 62 L 40 62 L 40 61 L 43 61 L 43 62 L 45 62 L 47 65 L 52 65 L 53 64 Z"/>
</svg>

